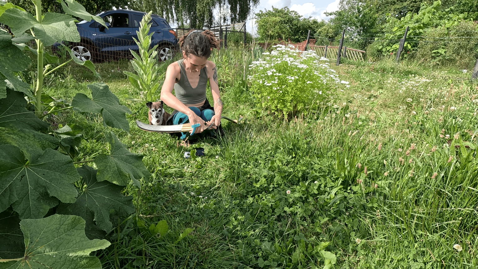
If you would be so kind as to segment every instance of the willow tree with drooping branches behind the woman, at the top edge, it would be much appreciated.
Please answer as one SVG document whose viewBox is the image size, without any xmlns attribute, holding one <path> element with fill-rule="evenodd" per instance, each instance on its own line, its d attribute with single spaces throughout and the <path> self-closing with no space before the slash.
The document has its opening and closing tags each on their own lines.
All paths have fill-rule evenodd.
<svg viewBox="0 0 478 269">
<path fill-rule="evenodd" d="M 153 11 L 179 26 L 201 28 L 214 22 L 244 22 L 260 0 L 134 0 L 130 6 L 138 11 Z M 229 16 L 215 18 L 213 10 L 227 8 Z"/>
</svg>

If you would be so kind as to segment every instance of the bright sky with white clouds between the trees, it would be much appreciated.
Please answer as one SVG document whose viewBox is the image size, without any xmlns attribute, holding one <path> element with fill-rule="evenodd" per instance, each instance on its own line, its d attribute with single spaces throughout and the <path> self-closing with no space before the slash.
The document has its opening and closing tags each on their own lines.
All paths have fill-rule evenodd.
<svg viewBox="0 0 478 269">
<path fill-rule="evenodd" d="M 328 20 L 324 14 L 325 11 L 337 11 L 339 0 L 261 0 L 255 12 L 260 10 L 271 10 L 274 8 L 288 7 L 293 11 L 297 11 L 304 17 L 312 16 L 317 20 Z M 249 19 L 247 22 L 248 32 L 255 34 L 255 28 L 252 27 L 254 20 Z M 255 24 L 255 23 L 254 23 Z"/>
</svg>

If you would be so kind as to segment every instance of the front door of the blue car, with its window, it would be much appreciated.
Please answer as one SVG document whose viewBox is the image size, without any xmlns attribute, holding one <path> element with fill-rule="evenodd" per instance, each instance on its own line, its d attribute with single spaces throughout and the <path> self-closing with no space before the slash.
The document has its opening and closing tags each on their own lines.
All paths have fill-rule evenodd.
<svg viewBox="0 0 478 269">
<path fill-rule="evenodd" d="M 130 23 L 129 12 L 108 12 L 101 16 L 109 29 L 99 26 L 96 36 L 96 44 L 100 51 L 108 52 L 129 52 L 134 44 L 133 28 Z"/>
</svg>

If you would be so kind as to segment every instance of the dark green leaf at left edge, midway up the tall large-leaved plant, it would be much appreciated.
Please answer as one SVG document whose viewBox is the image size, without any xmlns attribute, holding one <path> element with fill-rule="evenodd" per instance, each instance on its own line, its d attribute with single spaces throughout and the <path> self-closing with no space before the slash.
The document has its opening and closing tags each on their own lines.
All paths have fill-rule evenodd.
<svg viewBox="0 0 478 269">
<path fill-rule="evenodd" d="M 23 94 L 10 89 L 7 98 L 0 99 L 0 145 L 18 146 L 28 156 L 56 148 L 58 139 L 38 132 L 46 131 L 49 124 L 26 110 L 26 105 Z"/>
</svg>

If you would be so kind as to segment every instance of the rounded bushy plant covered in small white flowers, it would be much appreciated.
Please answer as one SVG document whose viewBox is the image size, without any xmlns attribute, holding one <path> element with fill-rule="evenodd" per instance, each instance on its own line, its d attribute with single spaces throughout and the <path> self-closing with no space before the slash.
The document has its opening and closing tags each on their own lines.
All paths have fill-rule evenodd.
<svg viewBox="0 0 478 269">
<path fill-rule="evenodd" d="M 250 89 L 262 108 L 287 117 L 324 104 L 341 82 L 348 84 L 328 66 L 328 59 L 315 51 L 299 51 L 292 45 L 274 47 L 250 65 Z"/>
</svg>

